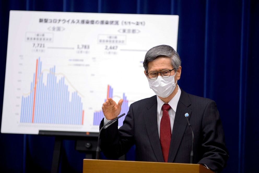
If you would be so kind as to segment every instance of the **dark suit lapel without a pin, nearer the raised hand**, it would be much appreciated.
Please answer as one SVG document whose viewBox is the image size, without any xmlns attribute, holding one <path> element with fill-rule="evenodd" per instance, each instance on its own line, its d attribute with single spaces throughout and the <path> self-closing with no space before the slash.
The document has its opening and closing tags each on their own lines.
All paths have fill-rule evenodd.
<svg viewBox="0 0 259 173">
<path fill-rule="evenodd" d="M 156 96 L 150 98 L 147 111 L 144 114 L 145 125 L 148 131 L 149 141 L 158 162 L 164 162 L 160 139 L 157 128 L 157 100 Z"/>
</svg>

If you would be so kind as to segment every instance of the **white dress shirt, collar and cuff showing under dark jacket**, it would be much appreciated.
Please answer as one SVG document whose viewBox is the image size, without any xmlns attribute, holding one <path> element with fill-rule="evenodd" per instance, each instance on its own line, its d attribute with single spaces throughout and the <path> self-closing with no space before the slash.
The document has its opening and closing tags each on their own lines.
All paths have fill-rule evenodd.
<svg viewBox="0 0 259 173">
<path fill-rule="evenodd" d="M 177 85 L 177 86 L 178 86 L 177 93 L 168 102 L 168 104 L 171 106 L 171 108 L 168 110 L 168 114 L 169 114 L 169 118 L 170 118 L 170 125 L 171 125 L 171 132 L 173 131 L 175 112 L 176 112 L 178 101 L 179 101 L 180 95 L 181 95 L 180 87 L 179 87 L 179 85 Z M 160 138 L 160 121 L 161 121 L 161 118 L 162 118 L 162 115 L 163 115 L 162 106 L 164 105 L 165 102 L 163 102 L 158 96 L 156 96 L 156 99 L 157 99 L 157 127 L 158 127 L 158 135 L 159 135 L 159 138 Z M 104 117 L 103 124 L 107 124 L 109 121 L 111 121 L 111 120 L 108 120 Z M 111 125 L 111 124 L 109 124 L 109 125 Z M 104 129 L 109 127 L 109 125 L 105 126 Z"/>
</svg>

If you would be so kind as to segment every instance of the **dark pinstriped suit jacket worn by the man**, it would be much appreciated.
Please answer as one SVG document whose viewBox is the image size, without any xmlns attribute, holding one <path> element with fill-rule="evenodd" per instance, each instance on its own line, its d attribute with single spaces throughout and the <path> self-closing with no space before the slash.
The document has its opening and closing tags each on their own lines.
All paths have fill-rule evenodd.
<svg viewBox="0 0 259 173">
<path fill-rule="evenodd" d="M 168 162 L 190 163 L 192 132 L 194 131 L 193 163 L 206 164 L 214 171 L 225 167 L 228 152 L 216 103 L 210 99 L 185 93 L 177 105 Z M 103 120 L 100 128 L 103 126 Z M 117 121 L 101 132 L 101 149 L 107 158 L 118 158 L 136 145 L 136 160 L 164 162 L 157 128 L 157 99 L 152 96 L 134 102 L 129 107 L 123 125 Z"/>
</svg>

